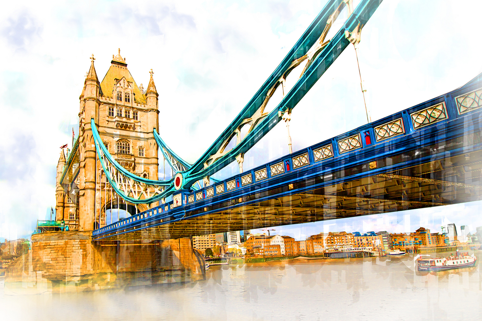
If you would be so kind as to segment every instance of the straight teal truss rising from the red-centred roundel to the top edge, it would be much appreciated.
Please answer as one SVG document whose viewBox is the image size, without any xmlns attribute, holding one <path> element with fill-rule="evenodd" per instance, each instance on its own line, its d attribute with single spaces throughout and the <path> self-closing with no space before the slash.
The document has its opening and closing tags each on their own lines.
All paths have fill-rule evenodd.
<svg viewBox="0 0 482 321">
<path fill-rule="evenodd" d="M 263 86 L 254 95 L 251 101 L 243 108 L 241 113 L 226 128 L 208 150 L 199 158 L 193 166 L 183 172 L 183 188 L 189 188 L 195 181 L 210 176 L 223 167 L 236 160 L 236 156 L 247 152 L 268 131 L 273 128 L 281 116 L 291 111 L 303 98 L 314 83 L 323 75 L 326 69 L 335 61 L 341 52 L 348 46 L 348 35 L 354 31 L 360 32 L 371 15 L 378 8 L 380 0 L 362 0 L 355 11 L 351 13 L 351 1 L 335 0 L 328 1 L 321 13 L 311 23 L 303 36 L 296 42 L 281 64 L 275 69 Z M 324 42 L 331 24 L 338 13 L 347 6 L 348 19 L 336 35 Z M 311 49 L 315 52 L 309 57 Z M 285 94 L 281 103 L 269 114 L 264 114 L 267 98 L 287 75 L 302 61 L 308 59 L 308 64 L 303 74 L 294 87 Z M 245 137 L 241 136 L 241 128 L 249 124 L 250 128 Z M 238 144 L 230 151 L 224 151 L 233 137 L 238 138 Z"/>
</svg>

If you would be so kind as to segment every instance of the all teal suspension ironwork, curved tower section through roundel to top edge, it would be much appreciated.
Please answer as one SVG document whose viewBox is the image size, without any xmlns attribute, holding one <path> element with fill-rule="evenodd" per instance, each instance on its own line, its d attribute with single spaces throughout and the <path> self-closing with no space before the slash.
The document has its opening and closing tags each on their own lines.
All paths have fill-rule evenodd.
<svg viewBox="0 0 482 321">
<path fill-rule="evenodd" d="M 153 203 L 168 195 L 172 195 L 175 190 L 190 189 L 196 182 L 209 178 L 209 176 L 223 167 L 228 166 L 237 156 L 247 152 L 257 141 L 266 135 L 269 130 L 281 121 L 282 115 L 285 112 L 291 112 L 308 90 L 321 75 L 323 75 L 326 69 L 348 46 L 350 41 L 359 40 L 362 26 L 366 24 L 380 3 L 381 0 L 362 0 L 353 11 L 351 0 L 328 1 L 321 10 L 321 13 L 296 42 L 295 46 L 289 51 L 281 64 L 271 76 L 268 77 L 263 86 L 256 92 L 254 97 L 228 128 L 223 131 L 191 167 L 187 168 L 187 170 L 179 171 L 170 182 L 146 180 L 129 173 L 108 155 L 107 150 L 102 146 L 103 144 L 100 141 L 98 133 L 96 133 L 96 135 L 94 134 L 99 157 L 100 154 L 108 155 L 105 157 L 104 163 L 109 162 L 113 167 L 116 167 L 117 171 L 132 180 L 133 184 L 164 186 L 162 192 L 159 192 L 160 190 L 157 189 L 159 193 L 154 193 L 148 198 L 142 199 L 142 201 L 137 198 L 137 196 L 131 197 L 128 191 L 121 191 L 119 189 L 119 182 L 113 185 L 116 192 L 132 203 Z M 340 28 L 332 39 L 324 41 L 333 21 L 345 7 L 348 9 L 348 18 L 344 26 Z M 269 113 L 264 113 L 268 100 L 276 88 L 280 84 L 284 87 L 284 81 L 289 73 L 305 60 L 308 60 L 308 62 L 294 87 L 288 93 L 285 93 L 284 98 L 276 108 Z M 92 124 L 94 125 L 94 122 L 92 122 Z M 246 135 L 241 137 L 241 129 L 245 125 L 249 126 L 249 129 Z M 93 131 L 96 132 L 94 129 Z M 159 136 L 156 134 L 154 131 L 154 136 Z M 234 138 L 237 139 L 237 145 L 231 150 L 225 151 L 229 142 Z M 158 139 L 163 146 L 166 146 L 165 143 L 160 140 L 160 137 L 156 137 L 156 141 L 158 141 Z M 101 150 L 102 152 L 100 152 Z M 165 157 L 168 157 L 167 149 L 164 151 L 161 148 L 161 151 Z M 189 165 L 172 151 L 170 151 L 170 154 L 173 155 L 172 165 L 176 166 L 177 169 L 186 168 Z M 170 159 L 170 157 L 168 157 L 168 159 Z M 101 163 L 104 168 L 102 160 Z M 106 168 L 104 168 L 104 170 L 106 170 Z M 112 174 L 110 176 L 112 176 Z M 179 185 L 175 184 L 176 181 L 179 182 Z"/>
</svg>

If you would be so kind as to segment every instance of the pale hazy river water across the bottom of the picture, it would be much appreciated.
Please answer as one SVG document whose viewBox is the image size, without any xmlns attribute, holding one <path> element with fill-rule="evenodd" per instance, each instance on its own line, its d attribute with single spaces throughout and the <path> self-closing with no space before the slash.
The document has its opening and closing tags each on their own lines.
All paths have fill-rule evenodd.
<svg viewBox="0 0 482 321">
<path fill-rule="evenodd" d="M 482 257 L 482 251 L 476 251 Z M 73 294 L 4 295 L 0 320 L 481 320 L 472 269 L 417 275 L 414 257 L 215 267 L 206 280 Z"/>
</svg>

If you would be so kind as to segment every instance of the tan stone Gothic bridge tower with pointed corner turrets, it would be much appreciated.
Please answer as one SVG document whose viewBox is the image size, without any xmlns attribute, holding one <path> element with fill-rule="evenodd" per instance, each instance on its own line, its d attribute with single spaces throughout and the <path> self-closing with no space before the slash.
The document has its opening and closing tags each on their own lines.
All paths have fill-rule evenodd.
<svg viewBox="0 0 482 321">
<path fill-rule="evenodd" d="M 135 175 L 158 179 L 158 146 L 152 131 L 159 128 L 159 95 L 152 70 L 144 91 L 142 84 L 139 88 L 135 83 L 120 50 L 112 56 L 101 82 L 95 72 L 94 56 L 91 59 L 80 94 L 79 140 L 72 148 L 72 153 L 76 154 L 67 156 L 66 175 L 60 182 L 77 206 L 80 231 L 92 231 L 99 222 L 104 225 L 106 211 L 111 207 L 127 209 L 131 214 L 147 209 L 146 205 L 136 205 L 137 208 L 133 204 L 126 205 L 111 192 L 100 162 L 96 160 L 92 118 L 108 152 L 122 167 Z M 58 196 L 57 205 L 60 205 Z"/>
</svg>

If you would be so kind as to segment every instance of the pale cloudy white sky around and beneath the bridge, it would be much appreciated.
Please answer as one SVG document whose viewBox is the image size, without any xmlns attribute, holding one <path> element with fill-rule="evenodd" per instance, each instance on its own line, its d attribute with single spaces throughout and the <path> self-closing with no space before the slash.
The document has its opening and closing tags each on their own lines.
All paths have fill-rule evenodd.
<svg viewBox="0 0 482 321">
<path fill-rule="evenodd" d="M 49 218 L 55 206 L 59 147 L 70 145 L 72 128 L 78 133 L 79 96 L 92 54 L 100 80 L 118 48 L 138 85 L 147 87 L 153 69 L 161 137 L 192 163 L 241 111 L 324 4 L 3 4 L 0 239 L 27 237 L 36 220 Z M 480 1 L 382 2 L 363 27 L 358 56 L 373 121 L 454 90 L 482 72 L 477 37 L 481 9 Z M 349 46 L 293 110 L 294 151 L 366 123 L 359 77 L 355 51 Z M 279 123 L 245 155 L 243 168 L 284 154 L 286 128 Z M 216 177 L 237 171 L 237 166 L 226 167 Z M 482 225 L 481 209 L 482 203 L 475 202 L 278 230 L 296 238 L 336 229 L 413 231 L 420 224 L 440 231 L 448 222 L 475 230 Z"/>
</svg>

